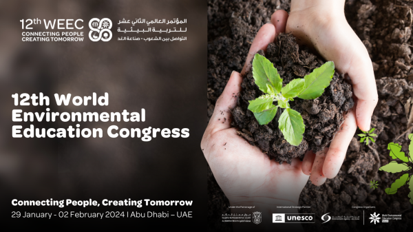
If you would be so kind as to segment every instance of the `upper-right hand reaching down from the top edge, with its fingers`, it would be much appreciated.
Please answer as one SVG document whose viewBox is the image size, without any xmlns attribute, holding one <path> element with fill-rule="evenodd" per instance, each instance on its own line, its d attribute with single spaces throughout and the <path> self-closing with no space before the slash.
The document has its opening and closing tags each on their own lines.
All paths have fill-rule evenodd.
<svg viewBox="0 0 413 232">
<path fill-rule="evenodd" d="M 370 129 L 378 101 L 372 61 L 346 21 L 344 3 L 345 0 L 292 0 L 286 25 L 286 32 L 292 32 L 298 43 L 315 48 L 324 59 L 334 61 L 340 73 L 348 74 L 355 96 L 355 105 L 344 116 L 343 127 L 332 140 L 328 153 L 307 153 L 304 157 L 303 172 L 312 174 L 310 180 L 315 185 L 337 176 L 357 125 L 363 131 Z M 276 19 L 271 21 L 277 23 Z"/>
</svg>

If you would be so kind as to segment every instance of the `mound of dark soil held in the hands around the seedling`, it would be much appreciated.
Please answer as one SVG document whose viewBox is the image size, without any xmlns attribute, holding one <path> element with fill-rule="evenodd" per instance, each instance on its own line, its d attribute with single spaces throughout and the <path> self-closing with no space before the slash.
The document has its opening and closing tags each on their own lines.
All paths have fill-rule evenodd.
<svg viewBox="0 0 413 232">
<path fill-rule="evenodd" d="M 295 78 L 303 78 L 310 74 L 316 67 L 324 64 L 306 48 L 299 48 L 295 37 L 291 34 L 279 34 L 276 43 L 270 43 L 266 50 L 259 54 L 266 56 L 279 75 L 283 78 L 283 86 Z M 240 136 L 246 138 L 251 145 L 257 145 L 277 160 L 277 162 L 291 163 L 291 159 L 304 156 L 310 149 L 313 152 L 322 151 L 334 138 L 343 123 L 343 112 L 354 105 L 351 85 L 344 81 L 344 75 L 335 72 L 330 86 L 324 94 L 314 100 L 294 98 L 290 107 L 301 114 L 306 130 L 304 138 L 298 146 L 290 145 L 278 128 L 278 118 L 282 109 L 277 110 L 277 115 L 268 123 L 260 125 L 253 112 L 248 110 L 248 101 L 260 97 L 264 93 L 255 85 L 252 72 L 248 72 L 242 81 L 242 92 L 238 99 L 238 106 L 233 110 L 233 118 Z"/>
</svg>

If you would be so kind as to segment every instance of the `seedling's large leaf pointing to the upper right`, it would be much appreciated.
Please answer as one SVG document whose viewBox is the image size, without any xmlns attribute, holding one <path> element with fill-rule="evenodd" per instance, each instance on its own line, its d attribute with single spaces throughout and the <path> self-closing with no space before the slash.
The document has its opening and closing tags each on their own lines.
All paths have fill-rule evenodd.
<svg viewBox="0 0 413 232">
<path fill-rule="evenodd" d="M 324 93 L 324 89 L 330 85 L 332 76 L 334 75 L 334 63 L 328 61 L 316 68 L 309 75 L 304 76 L 304 90 L 299 94 L 302 99 L 315 99 Z"/>
</svg>

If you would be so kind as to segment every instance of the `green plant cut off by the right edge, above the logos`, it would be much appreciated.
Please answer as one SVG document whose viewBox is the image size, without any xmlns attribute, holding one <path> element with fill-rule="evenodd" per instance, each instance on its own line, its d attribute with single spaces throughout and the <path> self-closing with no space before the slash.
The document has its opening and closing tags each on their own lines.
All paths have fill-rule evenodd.
<svg viewBox="0 0 413 232">
<path fill-rule="evenodd" d="M 387 165 L 380 167 L 380 171 L 385 171 L 388 173 L 400 173 L 403 171 L 409 171 L 412 169 L 410 164 L 413 164 L 413 134 L 409 135 L 410 145 L 409 145 L 409 155 L 405 156 L 405 153 L 401 151 L 401 146 L 398 143 L 389 143 L 388 150 L 390 150 L 390 157 L 394 160 L 399 159 L 403 163 L 399 163 L 397 161 L 389 162 Z M 399 179 L 395 180 L 390 188 L 385 189 L 385 193 L 388 195 L 397 193 L 397 190 L 405 185 L 406 183 L 409 185 L 410 193 L 408 197 L 410 198 L 410 204 L 413 204 L 413 175 L 410 173 L 405 173 Z"/>
</svg>

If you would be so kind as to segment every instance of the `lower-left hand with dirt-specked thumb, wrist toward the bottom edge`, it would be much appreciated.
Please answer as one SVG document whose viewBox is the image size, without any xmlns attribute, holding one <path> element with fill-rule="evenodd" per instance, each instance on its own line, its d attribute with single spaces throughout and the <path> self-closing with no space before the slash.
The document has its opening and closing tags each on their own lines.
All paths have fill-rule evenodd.
<svg viewBox="0 0 413 232">
<path fill-rule="evenodd" d="M 277 20 L 275 25 L 262 26 L 242 72 L 249 70 L 251 59 L 258 50 L 266 50 L 276 34 L 284 32 L 286 14 L 279 10 L 273 14 Z M 230 126 L 231 109 L 236 106 L 241 83 L 242 76 L 234 71 L 204 132 L 201 142 L 204 156 L 231 205 L 297 205 L 299 194 L 308 181 L 308 176 L 301 171 L 301 161 L 295 158 L 291 165 L 279 165 L 260 148 L 238 136 L 235 128 Z"/>
</svg>

